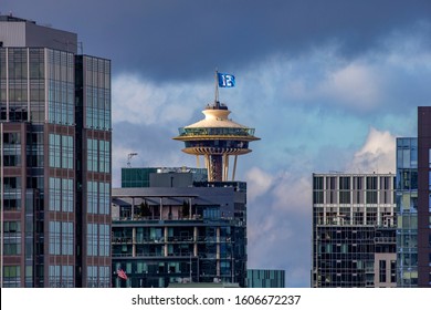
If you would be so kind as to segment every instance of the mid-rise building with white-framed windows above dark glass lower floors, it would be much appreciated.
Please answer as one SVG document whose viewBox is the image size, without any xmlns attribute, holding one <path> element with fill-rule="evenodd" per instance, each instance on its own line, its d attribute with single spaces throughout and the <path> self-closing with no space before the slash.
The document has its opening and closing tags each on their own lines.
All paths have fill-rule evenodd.
<svg viewBox="0 0 431 310">
<path fill-rule="evenodd" d="M 395 175 L 313 175 L 312 287 L 395 287 Z"/>
</svg>

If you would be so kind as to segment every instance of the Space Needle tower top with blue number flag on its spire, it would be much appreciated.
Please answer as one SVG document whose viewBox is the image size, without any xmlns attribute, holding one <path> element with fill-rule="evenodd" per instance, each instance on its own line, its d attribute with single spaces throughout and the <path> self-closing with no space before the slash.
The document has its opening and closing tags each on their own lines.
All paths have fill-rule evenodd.
<svg viewBox="0 0 431 310">
<path fill-rule="evenodd" d="M 234 76 L 216 71 L 216 100 L 202 111 L 204 118 L 179 128 L 174 140 L 182 141 L 182 152 L 199 157 L 203 156 L 209 182 L 235 179 L 238 155 L 252 152 L 249 143 L 260 140 L 254 136 L 254 128 L 233 122 L 228 116 L 228 106 L 219 101 L 219 86 L 234 86 Z M 229 178 L 229 157 L 233 156 L 233 170 Z"/>
</svg>

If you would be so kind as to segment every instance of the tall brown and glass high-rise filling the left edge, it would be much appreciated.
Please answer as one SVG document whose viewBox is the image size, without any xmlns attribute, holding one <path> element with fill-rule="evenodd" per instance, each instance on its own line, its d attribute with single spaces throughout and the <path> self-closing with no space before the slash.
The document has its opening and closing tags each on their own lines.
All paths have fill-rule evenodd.
<svg viewBox="0 0 431 310">
<path fill-rule="evenodd" d="M 111 61 L 0 17 L 1 286 L 111 287 Z"/>
</svg>

